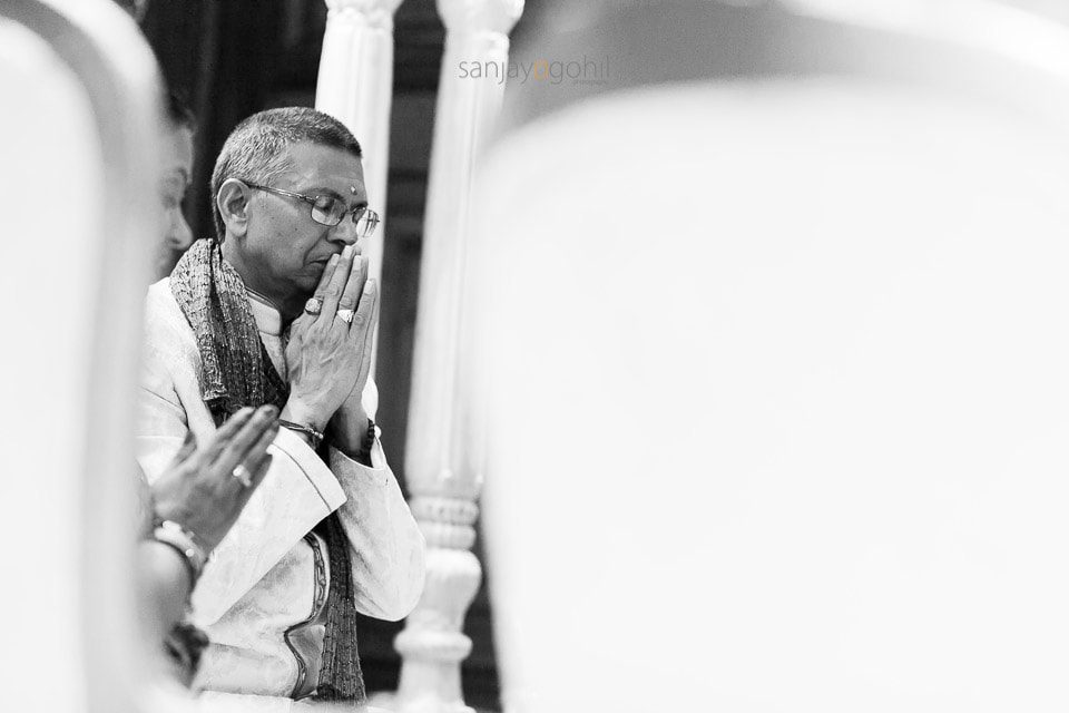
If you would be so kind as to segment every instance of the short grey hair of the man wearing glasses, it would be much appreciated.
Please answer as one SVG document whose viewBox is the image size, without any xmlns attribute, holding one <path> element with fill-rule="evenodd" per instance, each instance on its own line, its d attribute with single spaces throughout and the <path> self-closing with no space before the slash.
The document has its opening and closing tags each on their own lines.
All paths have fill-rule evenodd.
<svg viewBox="0 0 1069 713">
<path fill-rule="evenodd" d="M 356 158 L 363 156 L 356 137 L 344 124 L 323 111 L 308 107 L 283 107 L 248 117 L 231 131 L 212 172 L 212 215 L 220 243 L 226 237 L 226 225 L 218 204 L 223 184 L 228 178 L 244 178 L 268 185 L 290 168 L 287 149 L 301 141 L 340 148 Z"/>
</svg>

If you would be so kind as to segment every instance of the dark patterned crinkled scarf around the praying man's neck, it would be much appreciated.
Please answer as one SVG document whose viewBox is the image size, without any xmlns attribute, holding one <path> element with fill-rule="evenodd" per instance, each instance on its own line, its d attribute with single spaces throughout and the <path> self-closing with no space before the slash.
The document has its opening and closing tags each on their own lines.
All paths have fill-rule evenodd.
<svg viewBox="0 0 1069 713">
<path fill-rule="evenodd" d="M 246 406 L 273 403 L 281 410 L 290 397 L 290 387 L 271 363 L 245 283 L 223 260 L 219 244 L 210 240 L 194 243 L 170 274 L 170 291 L 197 339 L 200 390 L 216 426 Z M 331 564 L 323 661 L 315 697 L 361 703 L 365 694 L 356 655 L 349 539 L 336 512 L 315 529 L 326 540 Z"/>
</svg>

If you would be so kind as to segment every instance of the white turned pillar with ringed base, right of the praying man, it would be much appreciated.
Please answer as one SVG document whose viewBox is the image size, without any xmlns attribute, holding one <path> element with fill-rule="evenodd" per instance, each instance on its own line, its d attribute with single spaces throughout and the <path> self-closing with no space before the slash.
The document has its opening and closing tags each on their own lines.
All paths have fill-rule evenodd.
<svg viewBox="0 0 1069 713">
<path fill-rule="evenodd" d="M 461 632 L 482 569 L 470 548 L 481 477 L 473 390 L 462 358 L 464 262 L 472 172 L 503 81 L 465 77 L 461 62 L 508 64 L 508 32 L 522 0 L 439 0 L 445 51 L 431 154 L 420 302 L 406 442 L 412 511 L 428 541 L 423 598 L 395 645 L 403 657 L 396 710 L 457 713 L 464 705 L 460 662 L 471 652 Z M 484 72 L 482 72 L 484 74 Z"/>
</svg>

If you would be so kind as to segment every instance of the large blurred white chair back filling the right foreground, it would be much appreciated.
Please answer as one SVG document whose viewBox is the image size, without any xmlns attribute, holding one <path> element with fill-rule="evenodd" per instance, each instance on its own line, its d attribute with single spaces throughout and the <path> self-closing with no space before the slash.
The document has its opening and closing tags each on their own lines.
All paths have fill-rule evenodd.
<svg viewBox="0 0 1069 713">
<path fill-rule="evenodd" d="M 472 250 L 506 710 L 1063 710 L 1069 32 L 563 4 Z"/>
</svg>

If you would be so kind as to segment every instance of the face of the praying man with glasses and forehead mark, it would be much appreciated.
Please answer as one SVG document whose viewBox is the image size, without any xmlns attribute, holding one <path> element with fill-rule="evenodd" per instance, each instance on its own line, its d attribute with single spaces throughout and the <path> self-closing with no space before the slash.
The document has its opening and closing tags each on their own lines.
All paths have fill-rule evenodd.
<svg viewBox="0 0 1069 713">
<path fill-rule="evenodd" d="M 359 158 L 330 146 L 301 143 L 290 147 L 292 167 L 268 182 L 307 196 L 331 195 L 350 208 L 367 205 L 364 169 Z M 279 303 L 310 296 L 334 253 L 357 241 L 346 215 L 328 227 L 312 219 L 312 206 L 300 198 L 253 191 L 248 227 L 235 247 L 246 267 L 246 284 Z M 357 253 L 360 247 L 357 246 Z"/>
</svg>

